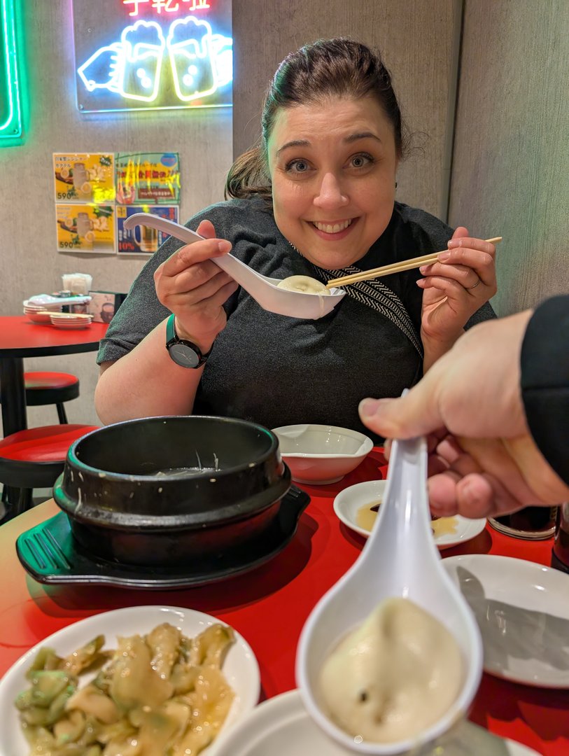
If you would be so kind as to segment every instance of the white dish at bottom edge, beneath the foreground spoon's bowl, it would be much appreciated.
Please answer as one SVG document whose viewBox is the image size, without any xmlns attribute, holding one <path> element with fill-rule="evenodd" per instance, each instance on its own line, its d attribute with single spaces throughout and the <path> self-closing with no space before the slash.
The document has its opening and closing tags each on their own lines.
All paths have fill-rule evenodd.
<svg viewBox="0 0 569 756">
<path fill-rule="evenodd" d="M 513 740 L 492 738 L 488 742 L 487 738 L 486 730 L 464 723 L 457 745 L 459 742 L 467 744 L 476 739 L 488 744 L 487 748 L 478 749 L 477 754 L 492 754 L 494 750 L 491 745 L 496 743 L 503 746 L 495 751 L 501 756 L 539 756 L 537 751 Z M 220 736 L 210 748 L 210 756 L 353 756 L 354 753 L 330 740 L 317 727 L 305 711 L 298 690 L 289 690 L 263 702 L 237 727 Z M 447 748 L 444 750 L 446 752 Z M 454 752 L 468 751 L 461 748 Z"/>
</svg>

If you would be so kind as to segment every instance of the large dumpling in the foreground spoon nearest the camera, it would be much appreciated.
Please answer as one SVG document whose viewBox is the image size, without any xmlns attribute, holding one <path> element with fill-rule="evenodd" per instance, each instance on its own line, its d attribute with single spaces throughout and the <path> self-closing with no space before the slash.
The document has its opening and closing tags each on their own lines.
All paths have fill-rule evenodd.
<svg viewBox="0 0 569 756">
<path fill-rule="evenodd" d="M 438 721 L 458 696 L 462 675 L 447 628 L 412 601 L 390 598 L 326 659 L 320 692 L 342 730 L 388 743 Z"/>
</svg>

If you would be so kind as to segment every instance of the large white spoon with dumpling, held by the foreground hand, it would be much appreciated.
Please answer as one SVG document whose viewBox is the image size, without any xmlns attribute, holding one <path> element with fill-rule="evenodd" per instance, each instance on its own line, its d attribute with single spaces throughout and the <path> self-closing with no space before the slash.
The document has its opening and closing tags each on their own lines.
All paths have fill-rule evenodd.
<svg viewBox="0 0 569 756">
<path fill-rule="evenodd" d="M 296 680 L 305 707 L 329 736 L 351 751 L 378 756 L 418 752 L 465 716 L 480 683 L 480 632 L 462 593 L 444 570 L 440 553 L 434 545 L 426 478 L 425 439 L 394 442 L 385 497 L 370 538 L 357 562 L 317 603 L 298 642 Z M 399 615 L 394 612 L 390 616 L 394 605 L 397 605 L 395 608 L 403 606 L 403 614 L 397 609 Z M 382 607 L 381 612 L 378 606 Z M 434 657 L 438 652 L 438 662 L 441 662 L 438 683 L 444 681 L 447 674 L 444 643 L 454 649 L 457 665 L 453 669 L 458 669 L 459 674 L 454 674 L 450 680 L 454 685 L 453 692 L 441 711 L 434 714 L 435 720 L 426 718 L 424 727 L 417 725 L 421 721 L 419 714 L 423 714 L 418 711 L 417 717 L 410 719 L 408 729 L 400 726 L 397 730 L 397 717 L 394 717 L 393 732 L 399 733 L 396 739 L 374 741 L 369 735 L 358 734 L 363 732 L 361 723 L 366 722 L 365 717 L 373 720 L 373 729 L 374 722 L 382 724 L 382 717 L 388 723 L 394 702 L 407 702 L 401 706 L 401 711 L 405 711 L 405 708 L 409 709 L 410 701 L 414 700 L 415 705 L 418 699 L 422 701 L 421 694 L 417 694 L 420 680 L 419 688 L 405 689 L 407 682 L 412 682 L 410 678 L 415 670 L 413 662 L 410 663 L 405 655 L 401 636 L 410 636 L 411 644 L 422 640 L 422 628 L 419 631 L 418 627 L 413 627 L 411 610 L 419 612 L 419 619 L 424 617 L 425 621 L 432 623 L 431 626 L 425 624 L 425 627 L 435 639 L 432 655 Z M 406 624 L 405 612 L 408 611 L 411 612 L 407 615 L 411 618 L 411 626 Z M 373 646 L 375 630 L 377 648 Z M 397 637 L 392 635 L 390 640 L 390 631 Z M 438 635 L 447 640 L 438 643 Z M 401 660 L 400 668 L 394 667 L 394 658 Z M 419 655 L 417 666 L 422 661 Z M 332 674 L 335 669 L 336 677 Z M 342 722 L 340 727 L 339 717 L 330 709 L 336 679 L 340 692 L 336 711 L 340 717 L 349 719 L 353 714 L 353 723 L 361 715 L 356 729 L 349 733 L 350 723 L 346 727 Z M 444 688 L 439 690 L 430 694 L 425 692 L 426 707 L 436 704 L 432 699 L 442 696 Z M 436 707 L 434 711 L 437 711 Z M 408 711 L 405 716 L 409 716 Z M 408 736 L 413 727 L 419 727 L 419 731 Z"/>
</svg>

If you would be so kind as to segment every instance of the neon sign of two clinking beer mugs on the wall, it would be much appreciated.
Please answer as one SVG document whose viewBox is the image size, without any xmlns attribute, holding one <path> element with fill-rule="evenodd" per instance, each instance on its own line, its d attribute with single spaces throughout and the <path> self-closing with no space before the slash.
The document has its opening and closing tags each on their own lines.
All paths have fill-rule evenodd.
<svg viewBox="0 0 569 756">
<path fill-rule="evenodd" d="M 109 15 L 100 3 L 74 0 L 79 110 L 232 104 L 230 3 L 218 0 L 215 13 L 205 0 L 102 5 Z"/>
</svg>

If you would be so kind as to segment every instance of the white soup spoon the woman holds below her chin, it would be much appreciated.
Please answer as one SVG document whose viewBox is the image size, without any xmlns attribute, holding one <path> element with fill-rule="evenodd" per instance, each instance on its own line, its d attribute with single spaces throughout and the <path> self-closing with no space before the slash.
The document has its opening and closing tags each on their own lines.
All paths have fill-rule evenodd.
<svg viewBox="0 0 569 756">
<path fill-rule="evenodd" d="M 201 241 L 203 237 L 190 231 L 189 228 L 169 221 L 166 218 L 159 218 L 157 215 L 151 215 L 148 212 L 137 212 L 126 218 L 124 227 L 128 229 L 135 226 L 150 226 L 171 234 L 176 239 L 186 244 L 194 241 Z M 290 318 L 306 318 L 308 320 L 318 320 L 323 318 L 336 307 L 340 299 L 345 295 L 342 289 L 330 289 L 329 294 L 310 294 L 302 291 L 289 291 L 277 287 L 280 283 L 279 278 L 269 278 L 261 276 L 255 272 L 249 265 L 241 262 L 233 255 L 223 255 L 213 258 L 215 265 L 221 270 L 230 274 L 233 280 L 239 283 L 240 287 L 248 292 L 264 310 L 276 312 L 279 315 L 289 315 Z"/>
</svg>

